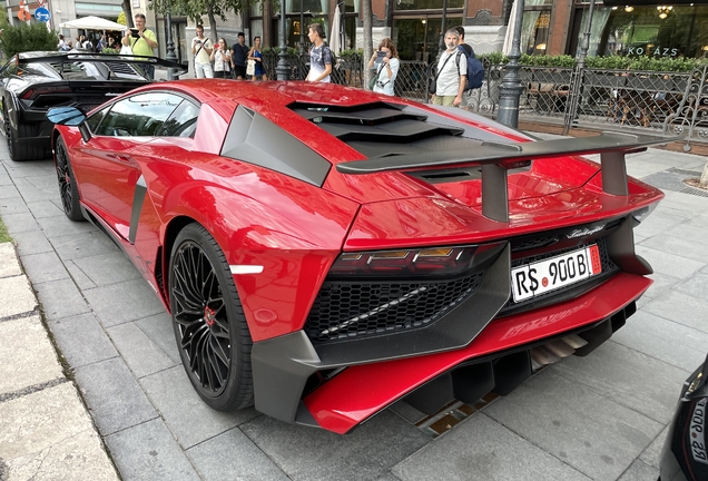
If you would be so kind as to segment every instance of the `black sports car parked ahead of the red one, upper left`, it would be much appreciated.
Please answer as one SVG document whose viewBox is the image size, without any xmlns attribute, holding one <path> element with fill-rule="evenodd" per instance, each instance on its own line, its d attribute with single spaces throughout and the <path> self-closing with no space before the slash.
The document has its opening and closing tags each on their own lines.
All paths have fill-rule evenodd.
<svg viewBox="0 0 708 481">
<path fill-rule="evenodd" d="M 142 66 L 181 66 L 158 58 L 70 52 L 17 53 L 0 70 L 0 116 L 12 160 L 51 157 L 50 107 L 88 111 L 114 97 L 149 84 Z"/>
</svg>

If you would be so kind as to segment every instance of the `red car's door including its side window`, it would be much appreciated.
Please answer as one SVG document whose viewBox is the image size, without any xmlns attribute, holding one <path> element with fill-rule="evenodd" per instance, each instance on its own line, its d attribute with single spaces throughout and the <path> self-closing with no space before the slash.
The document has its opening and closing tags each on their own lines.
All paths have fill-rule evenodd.
<svg viewBox="0 0 708 481">
<path fill-rule="evenodd" d="M 153 156 L 150 140 L 183 100 L 166 91 L 124 98 L 87 120 L 91 138 L 72 155 L 82 200 L 125 239 L 140 160 Z"/>
</svg>

